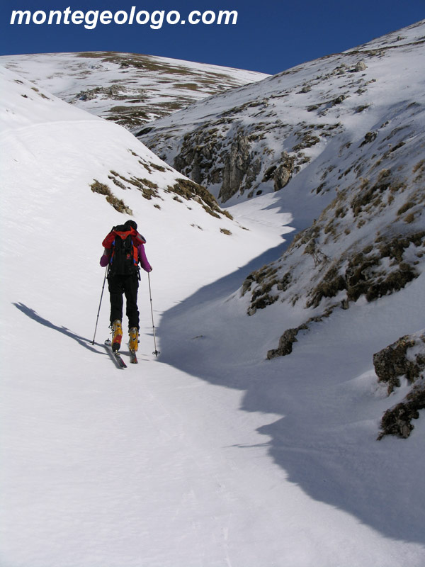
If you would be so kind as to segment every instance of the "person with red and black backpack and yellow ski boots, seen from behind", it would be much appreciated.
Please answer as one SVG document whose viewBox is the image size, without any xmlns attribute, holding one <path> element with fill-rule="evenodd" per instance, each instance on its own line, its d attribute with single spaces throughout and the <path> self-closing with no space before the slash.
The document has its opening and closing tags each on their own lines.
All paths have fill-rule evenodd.
<svg viewBox="0 0 425 567">
<path fill-rule="evenodd" d="M 118 351 L 123 338 L 123 294 L 125 295 L 126 315 L 130 350 L 137 351 L 139 344 L 139 310 L 137 291 L 139 288 L 140 268 L 149 272 L 152 266 L 145 253 L 146 240 L 137 232 L 137 223 L 128 220 L 123 225 L 115 226 L 104 238 L 101 266 L 108 267 L 108 288 L 111 300 L 110 328 L 112 330 L 112 349 Z"/>
</svg>

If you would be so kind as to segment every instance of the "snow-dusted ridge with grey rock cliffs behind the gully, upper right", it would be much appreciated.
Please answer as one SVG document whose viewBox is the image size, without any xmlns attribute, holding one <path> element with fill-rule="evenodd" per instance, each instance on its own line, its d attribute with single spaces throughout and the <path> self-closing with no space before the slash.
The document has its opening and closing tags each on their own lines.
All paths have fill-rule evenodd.
<svg viewBox="0 0 425 567">
<path fill-rule="evenodd" d="M 320 145 L 314 146 L 321 142 L 323 147 L 346 130 L 341 116 L 349 118 L 352 113 L 363 136 L 371 130 L 377 119 L 371 101 L 380 96 L 374 83 L 383 78 L 375 74 L 385 77 L 389 72 L 382 57 L 395 51 L 402 51 L 402 57 L 412 49 L 419 57 L 423 45 L 424 23 L 419 22 L 356 49 L 194 103 L 149 124 L 140 139 L 176 169 L 208 186 L 222 202 L 234 197 L 232 204 L 258 191 L 278 190 L 316 157 Z M 419 62 L 416 69 L 419 72 Z M 404 84 L 418 82 L 405 75 Z"/>
</svg>

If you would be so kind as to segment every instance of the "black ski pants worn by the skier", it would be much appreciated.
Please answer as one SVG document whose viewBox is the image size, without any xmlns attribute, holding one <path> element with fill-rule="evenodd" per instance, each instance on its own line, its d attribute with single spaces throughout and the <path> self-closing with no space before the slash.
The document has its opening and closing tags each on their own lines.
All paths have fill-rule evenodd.
<svg viewBox="0 0 425 567">
<path fill-rule="evenodd" d="M 139 310 L 137 308 L 137 291 L 139 278 L 137 274 L 130 276 L 108 276 L 109 296 L 111 299 L 111 324 L 115 319 L 123 321 L 123 293 L 125 295 L 125 314 L 128 317 L 128 328 L 139 328 Z"/>
</svg>

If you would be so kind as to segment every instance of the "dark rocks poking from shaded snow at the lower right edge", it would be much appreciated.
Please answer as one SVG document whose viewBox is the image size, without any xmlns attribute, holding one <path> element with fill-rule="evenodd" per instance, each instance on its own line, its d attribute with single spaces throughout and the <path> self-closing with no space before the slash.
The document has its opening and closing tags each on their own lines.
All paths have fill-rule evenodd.
<svg viewBox="0 0 425 567">
<path fill-rule="evenodd" d="M 406 439 L 414 429 L 412 420 L 425 409 L 425 330 L 405 335 L 373 355 L 373 365 L 379 382 L 387 383 L 388 394 L 406 378 L 412 384 L 404 400 L 385 412 L 378 439 L 395 435 Z"/>
</svg>

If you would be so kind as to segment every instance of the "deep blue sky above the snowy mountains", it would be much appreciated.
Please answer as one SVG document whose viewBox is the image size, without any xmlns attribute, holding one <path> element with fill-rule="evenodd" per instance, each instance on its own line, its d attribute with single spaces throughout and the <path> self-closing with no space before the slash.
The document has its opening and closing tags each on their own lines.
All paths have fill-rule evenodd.
<svg viewBox="0 0 425 567">
<path fill-rule="evenodd" d="M 236 10 L 233 26 L 98 23 L 83 25 L 10 24 L 13 10 L 64 11 Z M 425 18 L 425 0 L 2 0 L 0 55 L 123 51 L 278 73 L 295 64 L 341 52 Z"/>
</svg>

